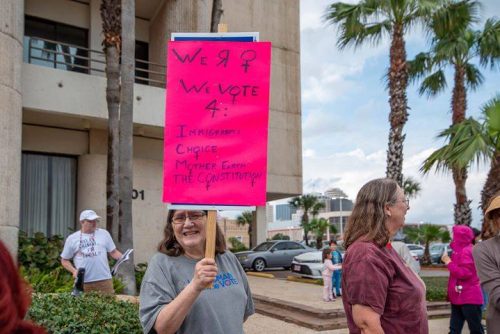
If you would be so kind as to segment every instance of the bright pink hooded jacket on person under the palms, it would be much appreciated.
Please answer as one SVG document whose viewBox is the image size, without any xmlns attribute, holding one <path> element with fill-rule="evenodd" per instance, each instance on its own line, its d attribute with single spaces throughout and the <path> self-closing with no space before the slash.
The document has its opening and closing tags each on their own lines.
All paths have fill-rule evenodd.
<svg viewBox="0 0 500 334">
<path fill-rule="evenodd" d="M 473 239 L 474 233 L 470 227 L 453 226 L 453 241 L 450 244 L 453 253 L 448 264 L 448 299 L 455 305 L 483 304 L 483 294 L 472 257 Z"/>
</svg>

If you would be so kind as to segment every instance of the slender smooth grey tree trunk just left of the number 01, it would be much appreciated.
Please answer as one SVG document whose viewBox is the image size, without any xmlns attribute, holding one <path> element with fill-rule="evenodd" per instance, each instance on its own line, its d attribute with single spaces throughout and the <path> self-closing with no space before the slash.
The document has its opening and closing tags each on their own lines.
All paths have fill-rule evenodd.
<svg viewBox="0 0 500 334">
<path fill-rule="evenodd" d="M 120 103 L 120 228 L 122 251 L 134 248 L 132 221 L 133 110 L 135 73 L 135 0 L 122 0 L 122 65 Z M 118 274 L 127 295 L 136 294 L 133 253 Z"/>
</svg>

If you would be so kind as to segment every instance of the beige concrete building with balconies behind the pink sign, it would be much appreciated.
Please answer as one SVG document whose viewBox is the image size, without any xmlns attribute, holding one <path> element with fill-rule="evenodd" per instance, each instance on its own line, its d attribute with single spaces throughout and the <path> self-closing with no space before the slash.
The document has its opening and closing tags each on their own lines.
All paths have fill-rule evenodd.
<svg viewBox="0 0 500 334">
<path fill-rule="evenodd" d="M 67 235 L 79 228 L 80 210 L 105 216 L 106 81 L 99 0 L 0 3 L 0 238 L 15 252 L 20 228 Z M 258 31 L 260 40 L 272 42 L 267 200 L 300 194 L 299 1 L 222 3 L 229 31 Z M 172 32 L 209 31 L 211 8 L 211 0 L 136 0 L 137 262 L 148 260 L 166 219 L 166 42 Z M 257 208 L 257 225 L 263 241 L 265 207 Z"/>
</svg>

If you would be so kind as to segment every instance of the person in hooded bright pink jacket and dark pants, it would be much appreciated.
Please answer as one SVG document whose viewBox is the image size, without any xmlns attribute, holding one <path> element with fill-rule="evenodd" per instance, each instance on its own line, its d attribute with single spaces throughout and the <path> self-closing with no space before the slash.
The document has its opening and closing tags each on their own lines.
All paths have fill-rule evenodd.
<svg viewBox="0 0 500 334">
<path fill-rule="evenodd" d="M 467 321 L 471 334 L 483 334 L 481 324 L 481 306 L 483 293 L 479 285 L 472 246 L 474 232 L 469 226 L 453 226 L 453 240 L 450 247 L 453 250 L 451 258 L 445 251 L 441 257 L 448 267 L 448 300 L 451 303 L 450 334 L 462 333 L 464 322 Z"/>
</svg>

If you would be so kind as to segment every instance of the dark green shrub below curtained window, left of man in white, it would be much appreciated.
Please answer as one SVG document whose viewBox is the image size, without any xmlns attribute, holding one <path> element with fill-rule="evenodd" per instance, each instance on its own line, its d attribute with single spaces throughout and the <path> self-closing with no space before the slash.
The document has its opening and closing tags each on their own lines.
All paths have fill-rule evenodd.
<svg viewBox="0 0 500 334">
<path fill-rule="evenodd" d="M 36 232 L 34 236 L 28 237 L 26 232 L 19 232 L 19 265 L 41 272 L 49 272 L 61 267 L 59 254 L 64 247 L 64 238 L 54 235 L 47 238 L 43 233 Z"/>
</svg>

